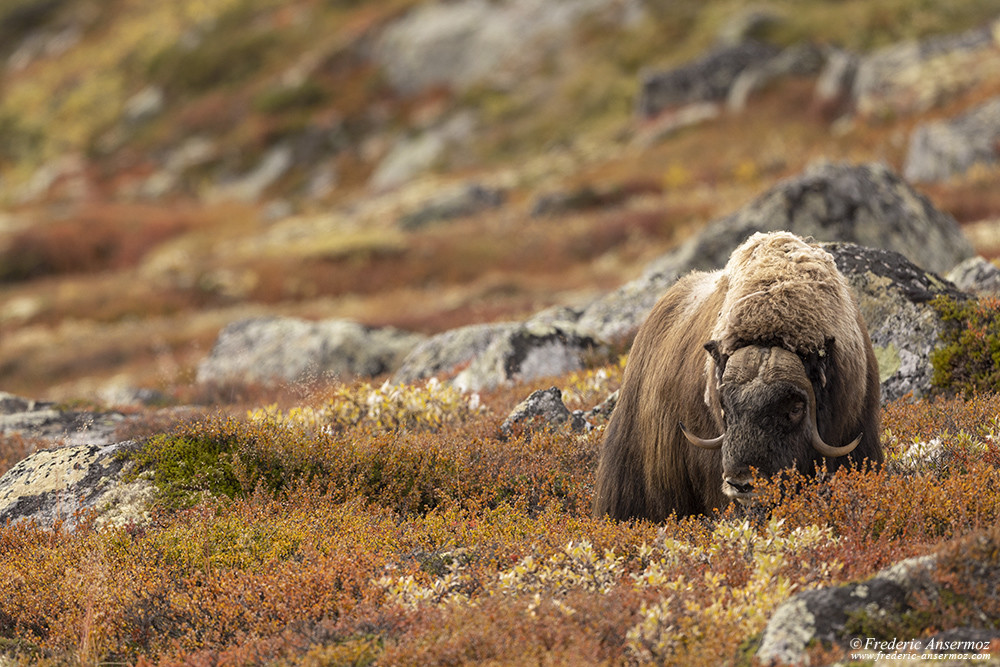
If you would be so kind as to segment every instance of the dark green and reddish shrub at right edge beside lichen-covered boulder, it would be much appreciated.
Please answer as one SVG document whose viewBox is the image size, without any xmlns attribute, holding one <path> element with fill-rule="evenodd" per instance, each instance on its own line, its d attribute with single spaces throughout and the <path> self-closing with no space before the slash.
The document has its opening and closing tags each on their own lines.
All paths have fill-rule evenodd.
<svg viewBox="0 0 1000 667">
<path fill-rule="evenodd" d="M 1000 391 L 1000 300 L 939 296 L 931 305 L 944 322 L 942 345 L 931 352 L 933 386 L 967 397 Z"/>
</svg>

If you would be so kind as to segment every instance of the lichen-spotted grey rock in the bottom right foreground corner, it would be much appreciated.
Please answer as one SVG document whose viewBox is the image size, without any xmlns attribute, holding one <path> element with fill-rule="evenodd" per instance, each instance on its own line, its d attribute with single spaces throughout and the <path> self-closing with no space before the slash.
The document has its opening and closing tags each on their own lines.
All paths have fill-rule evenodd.
<svg viewBox="0 0 1000 667">
<path fill-rule="evenodd" d="M 836 588 L 805 591 L 782 603 L 771 616 L 757 649 L 762 665 L 803 664 L 806 648 L 823 642 L 851 647 L 848 615 L 895 615 L 905 610 L 908 597 L 930 586 L 934 556 L 896 563 L 867 581 Z"/>
</svg>

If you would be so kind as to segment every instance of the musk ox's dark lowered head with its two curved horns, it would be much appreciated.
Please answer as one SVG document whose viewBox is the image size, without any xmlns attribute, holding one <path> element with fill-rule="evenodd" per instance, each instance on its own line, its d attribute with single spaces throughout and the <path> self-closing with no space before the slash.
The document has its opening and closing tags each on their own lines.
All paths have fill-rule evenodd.
<svg viewBox="0 0 1000 667">
<path fill-rule="evenodd" d="M 706 347 L 714 349 L 711 343 Z M 861 435 L 842 446 L 823 440 L 813 381 L 797 354 L 781 347 L 750 345 L 728 358 L 716 356 L 716 366 L 725 430 L 706 439 L 688 431 L 683 423 L 680 429 L 692 445 L 722 449 L 722 491 L 729 498 L 752 502 L 751 468 L 770 475 L 811 458 L 807 447 L 837 458 L 861 442 Z"/>
</svg>

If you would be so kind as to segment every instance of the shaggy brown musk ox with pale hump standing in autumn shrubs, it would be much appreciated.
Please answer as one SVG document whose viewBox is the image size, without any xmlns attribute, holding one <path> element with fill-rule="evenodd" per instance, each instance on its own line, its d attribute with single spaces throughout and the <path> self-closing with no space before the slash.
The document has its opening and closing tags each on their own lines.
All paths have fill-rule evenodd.
<svg viewBox="0 0 1000 667">
<path fill-rule="evenodd" d="M 751 469 L 882 461 L 878 362 L 833 257 L 754 234 L 671 287 L 639 329 L 594 510 L 659 521 L 753 501 Z"/>
</svg>

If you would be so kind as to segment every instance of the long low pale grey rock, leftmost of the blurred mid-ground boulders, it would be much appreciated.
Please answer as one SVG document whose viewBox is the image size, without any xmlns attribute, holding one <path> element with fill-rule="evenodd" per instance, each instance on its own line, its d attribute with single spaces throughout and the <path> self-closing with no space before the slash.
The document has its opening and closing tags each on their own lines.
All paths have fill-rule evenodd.
<svg viewBox="0 0 1000 667">
<path fill-rule="evenodd" d="M 306 381 L 375 376 L 399 368 L 424 339 L 346 320 L 255 318 L 227 326 L 198 366 L 198 382 Z"/>
</svg>

